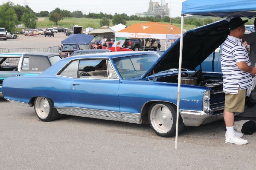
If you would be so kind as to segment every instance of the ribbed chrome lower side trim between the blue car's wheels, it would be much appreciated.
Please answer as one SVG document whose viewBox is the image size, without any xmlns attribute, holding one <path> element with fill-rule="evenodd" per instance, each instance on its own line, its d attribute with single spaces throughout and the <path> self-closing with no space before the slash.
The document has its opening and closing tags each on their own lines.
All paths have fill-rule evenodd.
<svg viewBox="0 0 256 170">
<path fill-rule="evenodd" d="M 141 124 L 140 121 L 140 113 L 126 113 L 126 112 L 112 112 L 111 114 L 116 114 L 119 113 L 122 116 L 106 116 L 106 115 L 93 115 L 93 114 L 88 114 L 88 110 L 90 110 L 90 113 L 99 113 L 102 112 L 102 110 L 95 110 L 95 109 L 82 109 L 82 108 L 72 108 L 72 107 L 56 107 L 58 112 L 60 114 L 64 115 L 74 115 L 74 116 L 81 116 L 81 117 L 87 117 L 87 118 L 98 118 L 98 119 L 105 119 L 105 120 L 111 120 L 111 121 L 123 121 L 123 122 L 129 122 L 129 123 L 135 123 L 135 124 Z M 84 110 L 84 113 L 81 112 L 75 112 L 74 110 Z M 106 113 L 110 111 L 104 111 L 102 113 Z M 109 114 L 109 113 L 108 113 Z"/>
</svg>

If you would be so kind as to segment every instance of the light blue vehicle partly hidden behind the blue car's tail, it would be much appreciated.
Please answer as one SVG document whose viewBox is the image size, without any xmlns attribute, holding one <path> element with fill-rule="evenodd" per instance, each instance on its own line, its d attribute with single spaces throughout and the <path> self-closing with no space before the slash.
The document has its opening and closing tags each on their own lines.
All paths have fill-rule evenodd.
<svg viewBox="0 0 256 170">
<path fill-rule="evenodd" d="M 59 60 L 61 60 L 60 55 L 50 52 L 1 53 L 0 96 L 3 96 L 2 83 L 4 79 L 16 76 L 38 75 Z"/>
</svg>

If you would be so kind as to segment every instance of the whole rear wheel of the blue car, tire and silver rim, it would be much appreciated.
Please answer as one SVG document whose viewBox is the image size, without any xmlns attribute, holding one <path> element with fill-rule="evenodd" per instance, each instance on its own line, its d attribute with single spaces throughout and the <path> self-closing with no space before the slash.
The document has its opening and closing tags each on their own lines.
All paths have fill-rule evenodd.
<svg viewBox="0 0 256 170">
<path fill-rule="evenodd" d="M 53 121 L 59 116 L 57 109 L 54 108 L 53 102 L 49 98 L 37 97 L 34 107 L 35 113 L 41 121 Z"/>
</svg>

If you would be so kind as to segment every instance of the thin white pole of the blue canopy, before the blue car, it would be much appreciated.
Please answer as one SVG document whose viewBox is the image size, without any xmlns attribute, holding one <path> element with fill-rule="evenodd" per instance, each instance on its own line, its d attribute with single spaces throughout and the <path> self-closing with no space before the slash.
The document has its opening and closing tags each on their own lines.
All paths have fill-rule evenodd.
<svg viewBox="0 0 256 170">
<path fill-rule="evenodd" d="M 184 15 L 181 16 L 180 59 L 179 59 L 178 94 L 177 94 L 177 113 L 176 113 L 177 118 L 176 118 L 175 150 L 177 150 L 178 128 L 179 128 L 180 79 L 181 79 L 181 61 L 182 61 L 182 47 L 183 47 L 183 23 L 184 23 Z"/>
</svg>

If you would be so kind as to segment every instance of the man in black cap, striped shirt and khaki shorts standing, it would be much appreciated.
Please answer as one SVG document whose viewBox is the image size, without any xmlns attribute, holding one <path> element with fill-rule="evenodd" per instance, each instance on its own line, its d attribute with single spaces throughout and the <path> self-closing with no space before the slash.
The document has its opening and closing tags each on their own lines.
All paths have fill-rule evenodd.
<svg viewBox="0 0 256 170">
<path fill-rule="evenodd" d="M 256 68 L 251 67 L 247 50 L 241 39 L 244 37 L 244 23 L 247 21 L 240 17 L 230 20 L 230 35 L 222 47 L 221 69 L 224 78 L 223 91 L 226 94 L 224 108 L 226 144 L 248 143 L 241 138 L 243 134 L 233 128 L 234 112 L 244 112 L 246 89 L 252 85 L 251 74 L 256 74 Z"/>
</svg>

